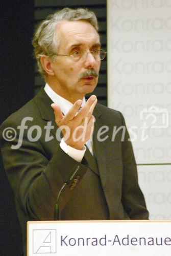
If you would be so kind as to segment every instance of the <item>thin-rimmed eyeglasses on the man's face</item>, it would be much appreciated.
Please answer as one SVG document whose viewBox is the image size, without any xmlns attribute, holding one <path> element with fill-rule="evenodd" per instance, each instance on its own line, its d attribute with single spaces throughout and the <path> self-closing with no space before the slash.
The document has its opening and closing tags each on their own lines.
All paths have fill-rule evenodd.
<svg viewBox="0 0 171 256">
<path fill-rule="evenodd" d="M 103 60 L 107 54 L 107 52 L 103 49 L 100 49 L 100 50 L 95 49 L 90 52 L 78 50 L 72 54 L 55 54 L 55 55 L 56 56 L 68 56 L 74 61 L 79 61 L 80 59 L 82 59 L 82 61 L 85 61 L 87 58 L 87 55 L 89 53 L 91 53 L 93 55 L 95 60 Z"/>
</svg>

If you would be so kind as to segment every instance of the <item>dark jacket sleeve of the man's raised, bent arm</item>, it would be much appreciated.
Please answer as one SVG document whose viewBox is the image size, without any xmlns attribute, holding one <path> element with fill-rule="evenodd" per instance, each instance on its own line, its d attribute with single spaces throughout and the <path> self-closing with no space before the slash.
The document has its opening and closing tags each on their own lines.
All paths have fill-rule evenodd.
<svg viewBox="0 0 171 256">
<path fill-rule="evenodd" d="M 29 219 L 54 220 L 57 195 L 64 181 L 69 175 L 68 184 L 59 199 L 61 211 L 72 195 L 74 179 L 77 176 L 81 180 L 88 167 L 69 157 L 60 148 L 58 141 L 55 154 L 48 159 L 40 140 L 29 141 L 26 132 L 23 133 L 22 145 L 18 149 L 12 149 L 12 144 L 17 144 L 20 139 L 18 122 L 14 119 L 7 119 L 0 132 L 4 167 L 14 190 L 15 200 Z M 15 140 L 4 139 L 7 127 L 16 131 Z"/>
</svg>

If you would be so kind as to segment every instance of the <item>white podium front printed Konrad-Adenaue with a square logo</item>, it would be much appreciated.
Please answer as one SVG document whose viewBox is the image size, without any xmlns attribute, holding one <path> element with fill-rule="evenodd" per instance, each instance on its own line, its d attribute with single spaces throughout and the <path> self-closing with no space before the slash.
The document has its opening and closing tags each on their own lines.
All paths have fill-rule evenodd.
<svg viewBox="0 0 171 256">
<path fill-rule="evenodd" d="M 34 221 L 28 256 L 169 256 L 171 221 Z"/>
</svg>

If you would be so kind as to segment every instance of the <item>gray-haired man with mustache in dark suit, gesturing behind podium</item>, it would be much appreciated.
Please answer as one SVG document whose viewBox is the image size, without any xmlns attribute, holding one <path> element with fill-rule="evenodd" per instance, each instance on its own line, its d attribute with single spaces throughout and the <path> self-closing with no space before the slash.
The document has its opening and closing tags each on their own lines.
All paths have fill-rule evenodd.
<svg viewBox="0 0 171 256">
<path fill-rule="evenodd" d="M 25 253 L 30 220 L 148 219 L 123 116 L 95 95 L 84 98 L 106 55 L 94 13 L 56 12 L 39 25 L 33 46 L 45 88 L 1 126 Z M 4 139 L 8 127 L 13 141 Z"/>
</svg>

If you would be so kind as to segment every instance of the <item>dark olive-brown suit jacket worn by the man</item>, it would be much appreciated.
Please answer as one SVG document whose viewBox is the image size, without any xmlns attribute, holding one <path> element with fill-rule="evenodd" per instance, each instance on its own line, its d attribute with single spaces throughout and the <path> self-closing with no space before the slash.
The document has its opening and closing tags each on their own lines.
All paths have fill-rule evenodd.
<svg viewBox="0 0 171 256">
<path fill-rule="evenodd" d="M 1 135 L 7 127 L 13 127 L 17 134 L 15 140 L 11 142 L 1 136 L 1 147 L 4 166 L 15 193 L 24 244 L 26 222 L 54 220 L 56 198 L 68 174 L 75 173 L 60 196 L 61 211 L 73 193 L 70 189 L 72 181 L 76 175 L 79 175 L 81 180 L 88 169 L 83 162 L 75 161 L 61 150 L 60 142 L 56 139 L 58 127 L 51 103 L 52 100 L 41 89 L 34 99 L 1 125 Z M 96 118 L 93 134 L 94 152 L 110 219 L 148 219 L 123 116 L 120 112 L 101 104 L 96 105 L 93 115 Z M 26 117 L 30 119 L 23 119 Z M 50 121 L 54 129 L 49 133 L 51 140 L 45 141 L 47 140 L 45 126 Z M 108 129 L 107 127 L 109 129 L 102 135 L 100 129 L 103 125 L 106 125 L 106 128 L 104 127 L 101 132 Z M 112 138 L 113 129 L 121 126 L 123 128 Z M 21 130 L 24 132 L 22 133 Z M 39 133 L 41 131 L 39 139 L 36 138 L 39 135 L 38 131 Z M 124 132 L 125 136 L 123 136 Z M 98 136 L 103 141 L 99 141 Z M 30 137 L 32 140 L 35 138 L 35 141 L 30 141 Z M 18 149 L 12 149 L 11 146 L 15 147 L 18 140 L 22 145 Z"/>
</svg>

